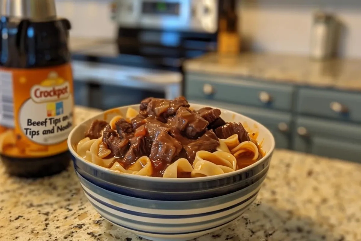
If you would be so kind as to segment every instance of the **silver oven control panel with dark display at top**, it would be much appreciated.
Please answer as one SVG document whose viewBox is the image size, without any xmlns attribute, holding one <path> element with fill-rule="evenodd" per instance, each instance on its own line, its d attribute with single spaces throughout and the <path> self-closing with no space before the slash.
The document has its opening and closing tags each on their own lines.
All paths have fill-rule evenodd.
<svg viewBox="0 0 361 241">
<path fill-rule="evenodd" d="M 215 33 L 218 0 L 115 0 L 112 18 L 120 27 Z"/>
</svg>

